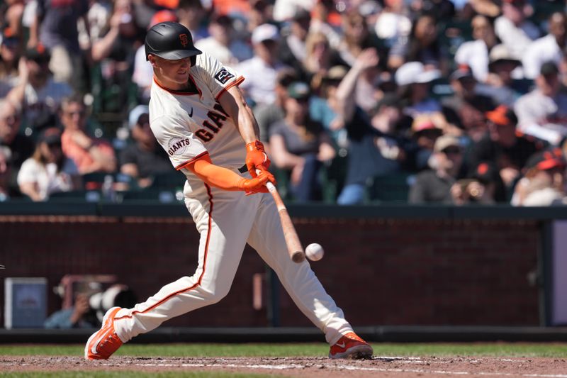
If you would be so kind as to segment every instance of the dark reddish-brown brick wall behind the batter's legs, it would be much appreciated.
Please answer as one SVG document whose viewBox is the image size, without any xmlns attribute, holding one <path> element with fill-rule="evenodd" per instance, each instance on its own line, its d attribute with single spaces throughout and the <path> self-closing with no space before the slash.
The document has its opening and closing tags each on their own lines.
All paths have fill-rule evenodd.
<svg viewBox="0 0 567 378">
<path fill-rule="evenodd" d="M 538 289 L 528 279 L 537 266 L 537 221 L 294 222 L 304 245 L 325 248 L 311 266 L 355 326 L 539 324 Z M 193 274 L 198 246 L 189 217 L 0 216 L 0 240 L 3 277 L 47 277 L 53 287 L 64 274 L 116 274 L 141 300 Z M 252 276 L 264 272 L 247 248 L 223 301 L 167 326 L 266 326 L 265 308 L 252 308 Z M 50 292 L 50 311 L 60 304 Z M 310 325 L 283 289 L 281 325 Z"/>
</svg>

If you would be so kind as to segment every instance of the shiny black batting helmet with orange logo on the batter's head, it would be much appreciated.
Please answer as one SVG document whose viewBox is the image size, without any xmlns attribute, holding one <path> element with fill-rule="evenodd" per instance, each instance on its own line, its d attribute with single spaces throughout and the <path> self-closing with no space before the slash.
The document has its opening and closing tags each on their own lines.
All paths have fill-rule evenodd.
<svg viewBox="0 0 567 378">
<path fill-rule="evenodd" d="M 147 55 L 153 54 L 167 60 L 178 60 L 184 57 L 193 57 L 191 65 L 195 64 L 196 55 L 201 54 L 193 46 L 193 38 L 188 28 L 172 21 L 157 23 L 147 30 L 145 40 Z"/>
</svg>

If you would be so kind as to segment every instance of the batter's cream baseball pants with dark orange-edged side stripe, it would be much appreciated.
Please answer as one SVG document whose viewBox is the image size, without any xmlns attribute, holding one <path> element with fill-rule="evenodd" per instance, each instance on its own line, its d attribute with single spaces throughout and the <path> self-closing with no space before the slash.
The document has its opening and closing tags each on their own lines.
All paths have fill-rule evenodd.
<svg viewBox="0 0 567 378">
<path fill-rule="evenodd" d="M 203 185 L 186 206 L 201 234 L 198 267 L 134 308 L 118 311 L 114 328 L 127 342 L 174 316 L 214 304 L 228 294 L 240 257 L 249 243 L 278 275 L 298 308 L 325 333 L 328 343 L 352 331 L 342 310 L 325 292 L 307 261 L 289 258 L 279 215 L 270 194 L 245 196 Z"/>
</svg>

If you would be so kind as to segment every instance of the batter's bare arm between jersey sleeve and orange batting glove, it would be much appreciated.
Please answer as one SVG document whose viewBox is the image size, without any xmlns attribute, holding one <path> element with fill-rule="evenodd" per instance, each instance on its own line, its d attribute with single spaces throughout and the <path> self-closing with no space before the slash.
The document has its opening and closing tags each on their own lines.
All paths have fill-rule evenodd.
<svg viewBox="0 0 567 378">
<path fill-rule="evenodd" d="M 229 88 L 228 91 L 220 96 L 218 101 L 234 121 L 245 143 L 259 140 L 260 131 L 258 123 L 240 88 L 236 86 Z"/>
</svg>

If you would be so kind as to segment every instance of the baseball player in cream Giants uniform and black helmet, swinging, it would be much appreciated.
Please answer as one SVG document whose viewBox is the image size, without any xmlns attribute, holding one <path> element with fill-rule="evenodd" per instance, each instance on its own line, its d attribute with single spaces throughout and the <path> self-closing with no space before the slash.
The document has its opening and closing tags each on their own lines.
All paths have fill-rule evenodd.
<svg viewBox="0 0 567 378">
<path fill-rule="evenodd" d="M 270 160 L 238 87 L 244 78 L 194 48 L 191 33 L 179 23 L 148 30 L 145 53 L 154 70 L 150 126 L 172 165 L 187 177 L 185 204 L 201 234 L 198 267 L 134 308 L 109 309 L 86 343 L 85 358 L 106 360 L 136 335 L 218 302 L 228 294 L 246 243 L 325 333 L 329 357 L 371 357 L 371 346 L 353 332 L 309 263 L 296 264 L 288 256 L 274 199 L 266 194 L 266 182 L 275 183 Z M 247 172 L 239 170 L 244 162 Z"/>
</svg>

